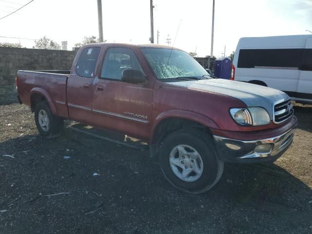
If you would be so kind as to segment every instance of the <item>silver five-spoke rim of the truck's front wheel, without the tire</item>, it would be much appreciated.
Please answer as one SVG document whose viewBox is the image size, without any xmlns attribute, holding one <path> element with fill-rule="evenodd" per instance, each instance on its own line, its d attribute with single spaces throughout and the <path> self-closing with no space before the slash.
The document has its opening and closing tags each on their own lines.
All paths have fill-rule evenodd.
<svg viewBox="0 0 312 234">
<path fill-rule="evenodd" d="M 169 156 L 173 173 L 181 180 L 194 182 L 203 173 L 204 165 L 199 153 L 189 145 L 177 145 Z"/>
</svg>

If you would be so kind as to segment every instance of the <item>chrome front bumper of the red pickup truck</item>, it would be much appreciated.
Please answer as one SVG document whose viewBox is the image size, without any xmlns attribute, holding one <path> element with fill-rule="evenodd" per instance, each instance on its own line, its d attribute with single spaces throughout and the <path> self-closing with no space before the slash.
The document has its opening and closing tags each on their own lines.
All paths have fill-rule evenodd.
<svg viewBox="0 0 312 234">
<path fill-rule="evenodd" d="M 275 161 L 291 145 L 295 128 L 296 125 L 277 137 L 252 141 L 235 140 L 214 135 L 216 150 L 221 160 L 225 162 L 254 163 Z M 256 147 L 263 144 L 270 144 L 271 148 L 267 152 L 259 153 Z"/>
</svg>

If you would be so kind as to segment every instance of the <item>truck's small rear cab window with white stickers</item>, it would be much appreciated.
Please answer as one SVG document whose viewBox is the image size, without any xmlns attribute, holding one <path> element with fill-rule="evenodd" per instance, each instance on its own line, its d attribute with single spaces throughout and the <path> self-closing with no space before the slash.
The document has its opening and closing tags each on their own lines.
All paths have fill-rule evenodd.
<svg viewBox="0 0 312 234">
<path fill-rule="evenodd" d="M 76 66 L 76 72 L 80 77 L 93 77 L 99 51 L 100 47 L 87 47 L 83 49 Z"/>
</svg>

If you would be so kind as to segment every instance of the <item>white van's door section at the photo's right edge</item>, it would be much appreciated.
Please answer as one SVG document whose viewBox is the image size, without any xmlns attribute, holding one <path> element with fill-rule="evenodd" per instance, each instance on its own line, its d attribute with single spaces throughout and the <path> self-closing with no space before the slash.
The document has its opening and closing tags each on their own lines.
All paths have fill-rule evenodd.
<svg viewBox="0 0 312 234">
<path fill-rule="evenodd" d="M 306 42 L 296 99 L 312 100 L 312 37 Z"/>
</svg>

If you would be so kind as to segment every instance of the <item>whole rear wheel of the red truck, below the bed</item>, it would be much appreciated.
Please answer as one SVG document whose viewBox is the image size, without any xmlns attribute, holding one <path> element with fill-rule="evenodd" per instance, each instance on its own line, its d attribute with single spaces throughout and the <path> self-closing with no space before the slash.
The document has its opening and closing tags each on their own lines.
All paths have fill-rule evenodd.
<svg viewBox="0 0 312 234">
<path fill-rule="evenodd" d="M 40 135 L 47 138 L 59 137 L 64 126 L 63 119 L 52 114 L 47 101 L 37 104 L 35 122 Z"/>
</svg>

